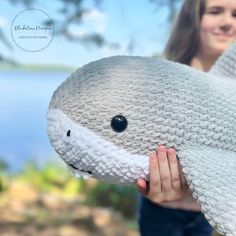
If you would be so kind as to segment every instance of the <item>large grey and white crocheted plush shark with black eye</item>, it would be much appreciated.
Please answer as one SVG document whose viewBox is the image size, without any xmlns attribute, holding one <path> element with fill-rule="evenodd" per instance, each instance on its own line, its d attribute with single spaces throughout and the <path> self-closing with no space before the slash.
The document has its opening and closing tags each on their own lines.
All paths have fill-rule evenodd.
<svg viewBox="0 0 236 236">
<path fill-rule="evenodd" d="M 206 218 L 236 235 L 236 44 L 209 73 L 142 57 L 85 65 L 55 91 L 48 134 L 75 174 L 116 183 L 148 179 L 150 151 L 175 148 Z"/>
</svg>

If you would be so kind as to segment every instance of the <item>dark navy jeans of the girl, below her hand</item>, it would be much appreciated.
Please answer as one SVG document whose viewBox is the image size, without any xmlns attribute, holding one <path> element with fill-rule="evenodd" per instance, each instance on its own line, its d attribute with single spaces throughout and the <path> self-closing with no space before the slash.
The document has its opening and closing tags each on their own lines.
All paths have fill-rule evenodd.
<svg viewBox="0 0 236 236">
<path fill-rule="evenodd" d="M 139 197 L 141 236 L 210 236 L 213 228 L 201 212 L 162 207 Z"/>
</svg>

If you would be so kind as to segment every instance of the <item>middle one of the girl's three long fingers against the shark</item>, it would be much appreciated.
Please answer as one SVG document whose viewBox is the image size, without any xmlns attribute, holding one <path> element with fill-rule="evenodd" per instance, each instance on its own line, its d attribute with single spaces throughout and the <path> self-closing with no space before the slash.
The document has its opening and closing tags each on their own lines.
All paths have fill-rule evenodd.
<svg viewBox="0 0 236 236">
<path fill-rule="evenodd" d="M 172 184 L 171 184 L 171 174 L 165 146 L 160 145 L 158 147 L 157 159 L 160 170 L 161 191 L 168 192 L 171 190 Z"/>
</svg>

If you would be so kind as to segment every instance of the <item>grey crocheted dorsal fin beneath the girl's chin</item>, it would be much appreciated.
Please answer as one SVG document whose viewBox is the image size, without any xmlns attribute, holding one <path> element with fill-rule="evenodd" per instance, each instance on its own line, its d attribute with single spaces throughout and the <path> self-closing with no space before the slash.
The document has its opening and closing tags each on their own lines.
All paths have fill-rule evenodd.
<svg viewBox="0 0 236 236">
<path fill-rule="evenodd" d="M 209 73 L 218 77 L 236 79 L 236 42 L 220 56 Z"/>
</svg>

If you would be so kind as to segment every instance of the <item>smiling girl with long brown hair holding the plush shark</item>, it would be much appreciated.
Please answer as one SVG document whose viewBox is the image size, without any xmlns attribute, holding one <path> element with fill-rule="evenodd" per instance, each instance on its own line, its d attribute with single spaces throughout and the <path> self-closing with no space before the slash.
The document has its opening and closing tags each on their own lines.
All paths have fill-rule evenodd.
<svg viewBox="0 0 236 236">
<path fill-rule="evenodd" d="M 208 71 L 236 40 L 235 0 L 185 0 L 165 49 L 167 59 Z M 174 149 L 150 154 L 150 182 L 137 180 L 142 236 L 211 235 L 183 178 Z"/>
</svg>

